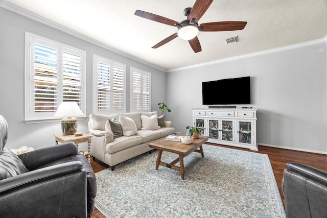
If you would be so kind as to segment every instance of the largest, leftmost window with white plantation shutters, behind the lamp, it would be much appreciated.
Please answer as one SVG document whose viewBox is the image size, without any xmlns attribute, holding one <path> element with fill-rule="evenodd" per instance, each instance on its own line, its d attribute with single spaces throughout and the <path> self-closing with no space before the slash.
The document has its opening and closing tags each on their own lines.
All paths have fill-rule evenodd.
<svg viewBox="0 0 327 218">
<path fill-rule="evenodd" d="M 62 101 L 85 114 L 85 52 L 26 33 L 25 119 L 54 119 Z"/>
</svg>

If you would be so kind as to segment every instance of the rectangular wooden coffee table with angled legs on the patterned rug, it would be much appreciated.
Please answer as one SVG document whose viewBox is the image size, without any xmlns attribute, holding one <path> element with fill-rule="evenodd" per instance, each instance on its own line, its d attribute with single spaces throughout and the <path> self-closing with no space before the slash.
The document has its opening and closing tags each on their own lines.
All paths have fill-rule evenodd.
<svg viewBox="0 0 327 218">
<path fill-rule="evenodd" d="M 178 135 L 178 134 L 177 134 Z M 179 134 L 181 135 L 181 134 Z M 202 144 L 208 140 L 208 136 L 199 136 L 199 138 L 193 138 L 192 144 L 183 144 L 181 141 L 168 141 L 166 138 L 154 141 L 149 144 L 149 147 L 159 150 L 157 161 L 155 163 L 155 169 L 158 170 L 158 166 L 166 166 L 175 171 L 179 171 L 181 179 L 184 179 L 184 161 L 183 158 L 191 154 L 192 152 L 201 153 L 204 158 Z M 199 149 L 198 149 L 199 148 Z M 161 161 L 162 151 L 178 154 L 179 157 L 173 160 L 171 163 L 165 163 Z M 179 166 L 175 164 L 179 161 Z"/>
</svg>

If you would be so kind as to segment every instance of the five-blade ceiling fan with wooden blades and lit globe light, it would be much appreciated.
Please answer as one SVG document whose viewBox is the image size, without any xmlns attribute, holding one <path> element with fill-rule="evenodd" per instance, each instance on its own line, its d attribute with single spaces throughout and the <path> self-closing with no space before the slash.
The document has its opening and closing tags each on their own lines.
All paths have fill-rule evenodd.
<svg viewBox="0 0 327 218">
<path fill-rule="evenodd" d="M 194 3 L 193 8 L 185 8 L 184 15 L 188 18 L 181 22 L 162 17 L 149 12 L 136 10 L 135 15 L 150 19 L 156 22 L 164 23 L 166 25 L 177 27 L 177 33 L 168 36 L 164 40 L 152 46 L 152 49 L 157 49 L 161 45 L 170 42 L 179 36 L 181 39 L 188 40 L 193 51 L 195 53 L 201 52 L 201 44 L 197 37 L 199 31 L 201 32 L 216 32 L 216 31 L 232 31 L 232 30 L 243 30 L 246 21 L 220 21 L 220 22 L 207 22 L 199 25 L 198 21 L 209 8 L 214 0 L 197 0 Z"/>
</svg>

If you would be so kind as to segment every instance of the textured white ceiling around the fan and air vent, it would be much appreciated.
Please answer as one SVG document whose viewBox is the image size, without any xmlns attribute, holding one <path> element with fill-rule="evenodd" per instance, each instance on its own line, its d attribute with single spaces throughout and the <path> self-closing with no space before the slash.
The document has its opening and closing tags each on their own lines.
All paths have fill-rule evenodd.
<svg viewBox="0 0 327 218">
<path fill-rule="evenodd" d="M 326 0 L 215 0 L 199 24 L 247 21 L 243 30 L 200 32 L 202 51 L 176 38 L 151 49 L 177 28 L 135 16 L 135 10 L 176 21 L 195 0 L 4 0 L 14 6 L 143 59 L 162 69 L 175 69 L 224 58 L 322 39 L 327 35 Z M 225 39 L 238 36 L 239 42 Z"/>
</svg>

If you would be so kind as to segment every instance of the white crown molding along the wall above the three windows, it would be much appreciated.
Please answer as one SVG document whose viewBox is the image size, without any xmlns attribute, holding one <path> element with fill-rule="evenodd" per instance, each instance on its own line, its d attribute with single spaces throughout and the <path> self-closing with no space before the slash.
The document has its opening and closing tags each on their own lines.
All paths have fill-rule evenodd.
<svg viewBox="0 0 327 218">
<path fill-rule="evenodd" d="M 33 13 L 29 12 L 29 11 L 26 11 L 24 9 L 21 9 L 21 8 L 19 8 L 17 6 L 14 6 L 14 5 L 10 4 L 10 3 L 7 3 L 7 2 L 4 2 L 4 1 L 0 0 L 0 7 L 5 8 L 5 9 L 7 9 L 9 11 L 12 11 L 12 12 L 14 12 L 16 14 L 19 14 L 19 15 L 25 16 L 27 18 L 30 18 L 32 20 L 35 20 L 37 22 L 43 23 L 46 26 L 49 26 L 49 27 L 52 27 L 54 29 L 60 30 L 60 31 L 62 31 L 64 33 L 67 33 L 69 35 L 72 35 L 72 36 L 75 36 L 77 38 L 80 38 L 80 39 L 82 39 L 84 41 L 87 41 L 87 42 L 90 42 L 92 44 L 95 44 L 95 45 L 98 45 L 100 47 L 103 47 L 104 49 L 107 49 L 107 50 L 109 50 L 111 52 L 114 52 L 116 54 L 122 55 L 122 56 L 124 56 L 126 58 L 132 59 L 134 61 L 143 63 L 143 64 L 148 65 L 150 67 L 153 67 L 153 68 L 156 68 L 156 69 L 161 70 L 163 72 L 166 72 L 166 69 L 164 69 L 164 68 L 161 68 L 159 66 L 156 66 L 154 64 L 151 64 L 151 63 L 149 63 L 149 62 L 147 62 L 145 60 L 139 59 L 139 58 L 137 58 L 135 56 L 129 55 L 129 54 L 127 54 L 125 52 L 122 52 L 122 51 L 120 51 L 118 49 L 114 49 L 113 47 L 108 46 L 108 45 L 106 45 L 106 44 L 104 44 L 104 43 L 102 43 L 100 41 L 97 41 L 97 40 L 92 39 L 90 37 L 87 37 L 87 36 L 85 36 L 83 34 L 80 34 L 80 33 L 76 32 L 76 31 L 73 31 L 71 29 L 68 29 L 66 27 L 63 27 L 63 26 L 59 25 L 56 22 L 50 21 L 48 19 L 45 19 L 45 18 L 43 18 L 43 17 L 41 17 L 39 15 L 33 14 Z"/>
</svg>

